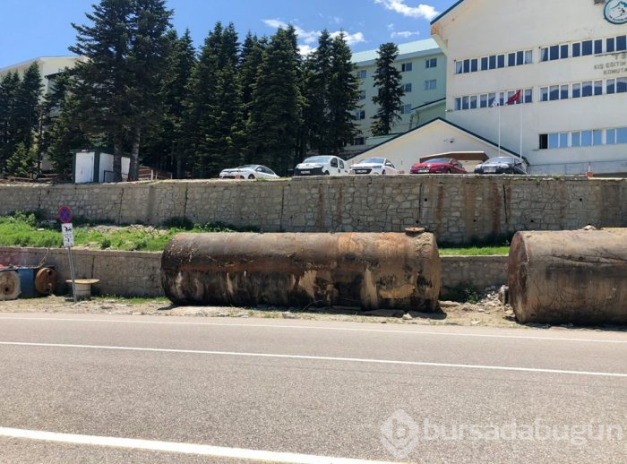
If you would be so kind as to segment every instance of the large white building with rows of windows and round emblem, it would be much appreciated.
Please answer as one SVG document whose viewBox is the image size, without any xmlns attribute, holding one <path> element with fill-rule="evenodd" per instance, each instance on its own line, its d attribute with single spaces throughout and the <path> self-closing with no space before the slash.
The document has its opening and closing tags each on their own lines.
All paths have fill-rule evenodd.
<svg viewBox="0 0 627 464">
<path fill-rule="evenodd" d="M 624 1 L 461 0 L 432 35 L 448 60 L 451 123 L 500 138 L 531 174 L 579 174 L 588 163 L 595 174 L 627 173 Z M 520 101 L 506 105 L 517 90 Z"/>
</svg>

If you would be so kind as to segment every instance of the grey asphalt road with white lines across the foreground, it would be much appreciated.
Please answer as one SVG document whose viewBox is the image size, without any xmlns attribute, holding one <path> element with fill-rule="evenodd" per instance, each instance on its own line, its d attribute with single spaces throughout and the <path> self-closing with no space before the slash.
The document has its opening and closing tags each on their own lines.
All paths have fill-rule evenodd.
<svg viewBox="0 0 627 464">
<path fill-rule="evenodd" d="M 627 461 L 625 332 L 0 314 L 0 360 L 2 463 Z"/>
</svg>

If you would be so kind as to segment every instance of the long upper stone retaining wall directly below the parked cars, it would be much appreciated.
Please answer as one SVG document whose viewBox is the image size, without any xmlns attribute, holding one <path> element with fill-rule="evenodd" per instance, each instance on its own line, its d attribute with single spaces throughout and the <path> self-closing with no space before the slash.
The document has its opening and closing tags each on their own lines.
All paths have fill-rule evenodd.
<svg viewBox="0 0 627 464">
<path fill-rule="evenodd" d="M 399 232 L 421 226 L 440 243 L 517 230 L 627 226 L 627 179 L 585 176 L 342 176 L 279 181 L 0 185 L 0 215 L 41 211 L 159 225 L 221 222 L 266 232 Z"/>
</svg>

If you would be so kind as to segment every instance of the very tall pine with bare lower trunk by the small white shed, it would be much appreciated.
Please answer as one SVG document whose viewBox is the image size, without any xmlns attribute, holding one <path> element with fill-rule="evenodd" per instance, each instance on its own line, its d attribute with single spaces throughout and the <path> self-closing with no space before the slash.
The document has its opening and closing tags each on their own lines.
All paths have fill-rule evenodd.
<svg viewBox="0 0 627 464">
<path fill-rule="evenodd" d="M 85 16 L 92 25 L 72 24 L 76 45 L 70 47 L 87 60 L 74 68 L 74 95 L 92 134 L 107 133 L 113 141 L 114 180 L 122 179 L 122 155 L 133 125 L 131 95 L 133 82 L 128 65 L 133 30 L 133 0 L 100 0 Z"/>
</svg>

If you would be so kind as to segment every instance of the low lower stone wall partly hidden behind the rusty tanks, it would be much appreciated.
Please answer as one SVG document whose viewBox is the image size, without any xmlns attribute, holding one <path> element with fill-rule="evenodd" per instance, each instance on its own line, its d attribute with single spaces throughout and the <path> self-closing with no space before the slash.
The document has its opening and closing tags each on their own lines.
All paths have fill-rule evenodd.
<svg viewBox="0 0 627 464">
<path fill-rule="evenodd" d="M 161 253 L 73 249 L 77 279 L 100 279 L 103 295 L 163 296 Z M 65 249 L 0 247 L 0 263 L 35 266 L 46 257 L 63 282 L 70 279 Z M 505 283 L 507 256 L 442 256 L 442 288 L 485 288 Z"/>
</svg>

